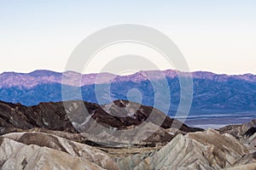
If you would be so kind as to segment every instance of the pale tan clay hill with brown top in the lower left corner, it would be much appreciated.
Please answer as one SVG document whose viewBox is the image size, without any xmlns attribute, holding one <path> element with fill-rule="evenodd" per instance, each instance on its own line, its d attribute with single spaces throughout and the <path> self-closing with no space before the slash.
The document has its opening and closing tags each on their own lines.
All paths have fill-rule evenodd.
<svg viewBox="0 0 256 170">
<path fill-rule="evenodd" d="M 102 150 L 46 133 L 0 138 L 1 169 L 119 169 Z"/>
</svg>

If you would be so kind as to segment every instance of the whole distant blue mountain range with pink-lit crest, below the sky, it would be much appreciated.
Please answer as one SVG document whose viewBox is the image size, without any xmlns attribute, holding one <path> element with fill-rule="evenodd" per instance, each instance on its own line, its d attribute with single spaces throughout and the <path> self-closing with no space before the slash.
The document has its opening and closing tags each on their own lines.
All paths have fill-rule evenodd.
<svg viewBox="0 0 256 170">
<path fill-rule="evenodd" d="M 165 80 L 160 76 L 165 76 Z M 148 80 L 147 75 L 151 79 Z M 38 105 L 40 102 L 62 101 L 62 91 L 64 87 L 81 90 L 82 99 L 98 104 L 108 104 L 113 100 L 127 100 L 127 93 L 132 88 L 136 88 L 141 94 L 141 101 L 137 96 L 131 97 L 131 101 L 142 103 L 143 105 L 154 106 L 154 101 L 159 99 L 158 93 L 154 93 L 153 82 L 165 94 L 170 90 L 171 106 L 169 111 L 163 108 L 166 104 L 156 106 L 156 109 L 165 111 L 172 116 L 177 111 L 180 102 L 180 83 L 178 75 L 186 77 L 186 73 L 180 71 L 139 71 L 133 75 L 116 76 L 110 73 L 79 74 L 73 71 L 64 73 L 55 71 L 33 71 L 31 73 L 4 72 L 0 75 L 0 100 L 20 103 L 22 105 Z M 256 109 L 256 76 L 245 75 L 218 75 L 206 71 L 196 71 L 191 73 L 193 77 L 193 100 L 190 114 L 207 113 L 227 113 L 255 111 Z M 64 77 L 64 78 L 63 78 Z M 97 79 L 97 77 L 101 77 Z M 109 81 L 110 79 L 111 82 Z M 170 89 L 162 87 L 167 81 Z M 97 99 L 96 87 L 108 91 L 110 86 L 111 99 Z M 77 100 L 79 96 L 68 94 L 66 100 Z"/>
</svg>

